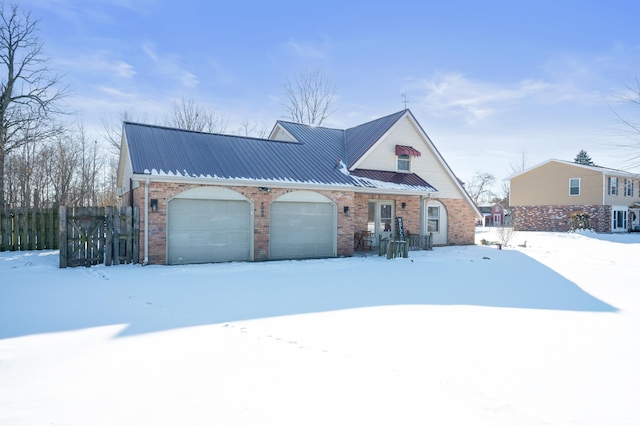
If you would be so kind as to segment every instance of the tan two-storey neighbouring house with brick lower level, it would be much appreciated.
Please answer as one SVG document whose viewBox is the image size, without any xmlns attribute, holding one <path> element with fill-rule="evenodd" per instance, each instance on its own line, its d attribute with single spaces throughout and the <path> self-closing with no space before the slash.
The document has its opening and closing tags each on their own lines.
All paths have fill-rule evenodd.
<svg viewBox="0 0 640 426">
<path fill-rule="evenodd" d="M 586 213 L 596 232 L 640 230 L 640 175 L 547 160 L 510 178 L 513 226 L 521 231 L 570 229 Z"/>
</svg>

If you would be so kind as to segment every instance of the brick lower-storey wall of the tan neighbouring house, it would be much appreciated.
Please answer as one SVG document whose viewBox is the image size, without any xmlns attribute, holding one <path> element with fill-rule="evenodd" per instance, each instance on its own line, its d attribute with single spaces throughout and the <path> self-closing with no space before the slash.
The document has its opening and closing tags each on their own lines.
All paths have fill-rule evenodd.
<svg viewBox="0 0 640 426">
<path fill-rule="evenodd" d="M 567 232 L 571 226 L 571 214 L 575 212 L 588 213 L 594 231 L 611 232 L 611 207 L 600 205 L 515 206 L 513 207 L 513 229 Z"/>
</svg>

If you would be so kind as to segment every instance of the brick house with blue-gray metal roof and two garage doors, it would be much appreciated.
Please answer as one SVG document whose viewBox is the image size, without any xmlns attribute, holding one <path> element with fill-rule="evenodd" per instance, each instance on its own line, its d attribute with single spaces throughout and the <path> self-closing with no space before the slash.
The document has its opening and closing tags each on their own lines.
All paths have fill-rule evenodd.
<svg viewBox="0 0 640 426">
<path fill-rule="evenodd" d="M 268 139 L 123 124 L 118 191 L 155 264 L 351 256 L 406 231 L 473 244 L 480 213 L 409 110 L 350 128 L 278 121 Z"/>
</svg>

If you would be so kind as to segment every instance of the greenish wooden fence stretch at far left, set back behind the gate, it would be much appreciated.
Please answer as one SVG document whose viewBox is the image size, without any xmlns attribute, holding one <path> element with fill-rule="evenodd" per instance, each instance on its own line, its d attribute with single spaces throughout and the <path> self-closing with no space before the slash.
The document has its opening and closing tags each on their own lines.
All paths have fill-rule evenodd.
<svg viewBox="0 0 640 426">
<path fill-rule="evenodd" d="M 55 250 L 57 209 L 0 209 L 0 251 Z"/>
</svg>

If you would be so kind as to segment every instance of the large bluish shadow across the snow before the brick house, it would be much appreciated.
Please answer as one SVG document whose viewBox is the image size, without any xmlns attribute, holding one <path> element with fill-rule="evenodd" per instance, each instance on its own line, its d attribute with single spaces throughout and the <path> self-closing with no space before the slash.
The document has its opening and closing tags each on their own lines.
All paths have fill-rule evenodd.
<svg viewBox="0 0 640 426">
<path fill-rule="evenodd" d="M 518 251 L 470 246 L 410 255 L 393 260 L 52 267 L 46 274 L 55 284 L 23 280 L 0 286 L 0 339 L 114 324 L 128 324 L 119 336 L 129 336 L 389 305 L 617 311 Z"/>
</svg>

